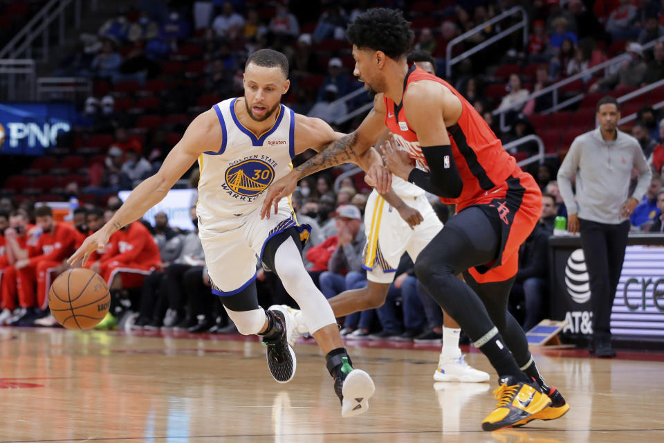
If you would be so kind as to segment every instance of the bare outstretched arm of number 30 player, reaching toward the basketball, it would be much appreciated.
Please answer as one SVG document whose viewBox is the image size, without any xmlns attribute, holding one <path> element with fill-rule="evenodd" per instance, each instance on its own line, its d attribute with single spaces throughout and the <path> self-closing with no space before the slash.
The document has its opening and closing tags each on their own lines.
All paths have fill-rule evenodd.
<svg viewBox="0 0 664 443">
<path fill-rule="evenodd" d="M 214 134 L 216 131 L 219 132 L 219 136 Z M 205 111 L 192 121 L 158 172 L 131 191 L 127 200 L 107 224 L 87 237 L 80 248 L 68 258 L 68 264 L 71 266 L 86 264 L 91 253 L 103 248 L 113 233 L 138 220 L 149 208 L 158 204 L 199 155 L 205 151 L 216 150 L 220 145 L 221 128 L 216 115 L 212 110 Z"/>
</svg>

